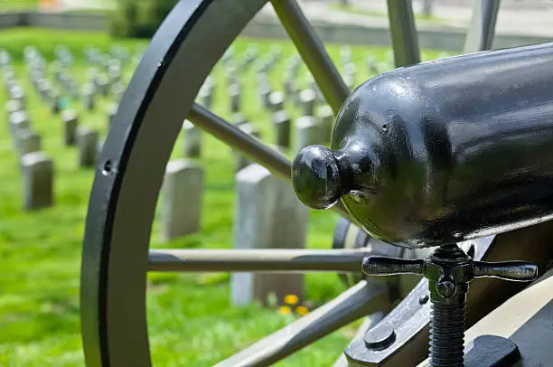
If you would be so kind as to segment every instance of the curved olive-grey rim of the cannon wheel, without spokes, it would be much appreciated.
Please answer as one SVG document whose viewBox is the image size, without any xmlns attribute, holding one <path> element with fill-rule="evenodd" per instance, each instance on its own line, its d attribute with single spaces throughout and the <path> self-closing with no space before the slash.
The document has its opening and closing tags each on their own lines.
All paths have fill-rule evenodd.
<svg viewBox="0 0 553 367">
<path fill-rule="evenodd" d="M 129 83 L 99 156 L 85 229 L 80 315 L 88 367 L 151 365 L 146 268 L 164 168 L 203 80 L 265 3 L 179 2 Z"/>
</svg>

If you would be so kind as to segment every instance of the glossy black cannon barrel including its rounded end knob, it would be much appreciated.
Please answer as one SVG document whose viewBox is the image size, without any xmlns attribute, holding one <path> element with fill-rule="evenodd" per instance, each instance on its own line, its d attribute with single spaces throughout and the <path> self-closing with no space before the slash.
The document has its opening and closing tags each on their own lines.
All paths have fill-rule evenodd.
<svg viewBox="0 0 553 367">
<path fill-rule="evenodd" d="M 295 191 L 342 198 L 366 231 L 411 248 L 553 218 L 553 43 L 389 71 L 356 89 L 333 150 L 295 157 Z"/>
</svg>

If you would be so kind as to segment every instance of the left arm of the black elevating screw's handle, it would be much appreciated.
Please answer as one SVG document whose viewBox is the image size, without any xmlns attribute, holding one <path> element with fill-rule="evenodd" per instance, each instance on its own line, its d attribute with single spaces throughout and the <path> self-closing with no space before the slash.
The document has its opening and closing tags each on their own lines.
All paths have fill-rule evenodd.
<svg viewBox="0 0 553 367">
<path fill-rule="evenodd" d="M 369 276 L 390 276 L 399 274 L 424 274 L 424 259 L 399 259 L 385 256 L 368 256 L 363 259 L 361 270 Z"/>
</svg>

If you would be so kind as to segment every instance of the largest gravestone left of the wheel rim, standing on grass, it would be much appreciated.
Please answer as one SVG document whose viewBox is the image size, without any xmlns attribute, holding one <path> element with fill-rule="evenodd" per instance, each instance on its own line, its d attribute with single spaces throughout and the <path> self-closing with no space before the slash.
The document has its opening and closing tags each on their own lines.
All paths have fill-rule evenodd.
<svg viewBox="0 0 553 367">
<path fill-rule="evenodd" d="M 44 152 L 33 152 L 21 157 L 23 173 L 23 209 L 33 211 L 53 204 L 52 159 Z"/>
</svg>

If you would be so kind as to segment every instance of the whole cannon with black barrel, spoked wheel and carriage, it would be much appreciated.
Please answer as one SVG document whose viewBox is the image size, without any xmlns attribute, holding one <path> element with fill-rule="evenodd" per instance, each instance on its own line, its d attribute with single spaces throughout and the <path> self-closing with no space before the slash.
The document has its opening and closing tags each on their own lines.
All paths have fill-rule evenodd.
<svg viewBox="0 0 553 367">
<path fill-rule="evenodd" d="M 96 167 L 83 241 L 86 365 L 152 365 L 148 271 L 267 269 L 354 277 L 342 295 L 220 367 L 270 365 L 363 317 L 335 366 L 547 364 L 553 45 L 483 52 L 492 48 L 499 1 L 478 1 L 464 48 L 476 53 L 419 64 L 411 2 L 389 0 L 398 69 L 351 93 L 295 0 L 274 0 L 337 114 L 330 149 L 307 147 L 292 165 L 194 103 L 266 3 L 179 2 L 123 95 Z M 332 207 L 349 221 L 348 231 L 367 233 L 361 246 L 337 240 L 328 250 L 149 249 L 164 167 L 185 118 L 292 179 L 308 206 Z M 414 284 L 406 273 L 425 278 Z M 538 273 L 544 275 L 534 281 Z"/>
</svg>

